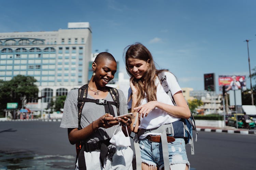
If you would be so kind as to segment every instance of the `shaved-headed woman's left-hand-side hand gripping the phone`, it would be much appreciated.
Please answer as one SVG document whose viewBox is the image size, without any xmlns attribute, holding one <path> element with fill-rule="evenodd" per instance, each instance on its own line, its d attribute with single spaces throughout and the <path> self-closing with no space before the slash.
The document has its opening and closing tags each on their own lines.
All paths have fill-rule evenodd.
<svg viewBox="0 0 256 170">
<path fill-rule="evenodd" d="M 108 129 L 108 128 L 114 126 L 114 125 L 119 124 L 118 119 L 116 120 L 109 113 L 106 113 L 105 115 L 101 116 L 95 122 L 97 122 L 99 128 L 105 128 L 105 129 Z"/>
</svg>

